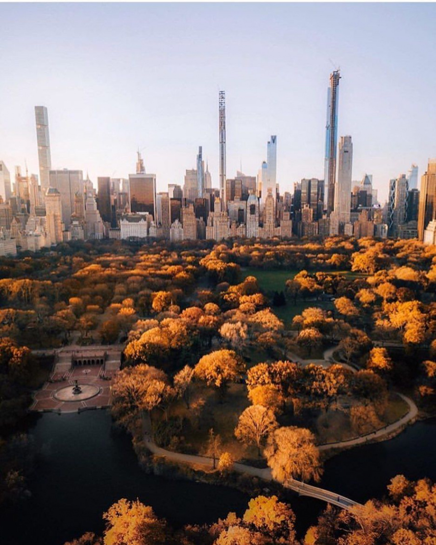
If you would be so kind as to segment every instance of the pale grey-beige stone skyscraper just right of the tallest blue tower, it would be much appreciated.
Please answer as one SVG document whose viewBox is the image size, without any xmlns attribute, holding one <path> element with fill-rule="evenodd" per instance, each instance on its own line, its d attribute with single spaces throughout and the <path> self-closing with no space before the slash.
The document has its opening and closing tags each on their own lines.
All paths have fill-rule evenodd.
<svg viewBox="0 0 436 545">
<path fill-rule="evenodd" d="M 351 136 L 341 136 L 334 201 L 335 213 L 341 223 L 350 221 L 352 168 L 353 142 Z"/>
</svg>

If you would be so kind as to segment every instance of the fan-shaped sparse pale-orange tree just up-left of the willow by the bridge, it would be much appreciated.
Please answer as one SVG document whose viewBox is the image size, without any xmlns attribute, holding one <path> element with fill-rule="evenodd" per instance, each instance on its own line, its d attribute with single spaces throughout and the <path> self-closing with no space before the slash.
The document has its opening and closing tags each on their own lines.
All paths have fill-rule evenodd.
<svg viewBox="0 0 436 545">
<path fill-rule="evenodd" d="M 268 435 L 278 426 L 274 413 L 262 405 L 251 405 L 239 416 L 235 437 L 247 445 L 256 445 L 258 456 Z"/>
</svg>

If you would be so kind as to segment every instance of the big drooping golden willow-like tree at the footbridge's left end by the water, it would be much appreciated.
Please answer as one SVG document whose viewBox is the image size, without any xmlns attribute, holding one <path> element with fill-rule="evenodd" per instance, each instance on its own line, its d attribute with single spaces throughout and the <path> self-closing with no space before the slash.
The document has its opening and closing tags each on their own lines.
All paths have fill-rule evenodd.
<svg viewBox="0 0 436 545">
<path fill-rule="evenodd" d="M 315 437 L 311 431 L 296 426 L 275 429 L 264 450 L 272 477 L 280 482 L 288 479 L 319 481 L 322 466 Z"/>
</svg>

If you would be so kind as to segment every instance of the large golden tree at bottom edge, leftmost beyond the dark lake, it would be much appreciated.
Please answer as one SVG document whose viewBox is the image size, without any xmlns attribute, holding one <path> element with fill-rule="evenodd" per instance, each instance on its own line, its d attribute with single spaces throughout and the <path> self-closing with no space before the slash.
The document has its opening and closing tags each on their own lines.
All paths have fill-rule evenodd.
<svg viewBox="0 0 436 545">
<path fill-rule="evenodd" d="M 105 545 L 165 545 L 166 522 L 139 500 L 122 499 L 103 514 Z"/>
</svg>

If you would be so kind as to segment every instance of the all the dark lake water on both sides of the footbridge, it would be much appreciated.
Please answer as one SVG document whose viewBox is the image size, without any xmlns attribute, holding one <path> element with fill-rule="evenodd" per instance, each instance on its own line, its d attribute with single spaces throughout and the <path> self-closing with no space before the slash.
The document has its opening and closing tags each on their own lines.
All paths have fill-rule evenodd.
<svg viewBox="0 0 436 545">
<path fill-rule="evenodd" d="M 45 414 L 31 430 L 43 449 L 32 477 L 31 500 L 0 513 L 2 545 L 62 545 L 103 530 L 101 514 L 120 498 L 139 498 L 175 525 L 213 522 L 239 515 L 249 498 L 237 490 L 147 475 L 138 467 L 130 439 L 111 431 L 105 411 Z M 358 501 L 381 498 L 392 476 L 436 481 L 436 419 L 418 422 L 395 439 L 356 447 L 325 464 L 320 486 Z M 325 507 L 289 496 L 299 533 Z"/>
</svg>

